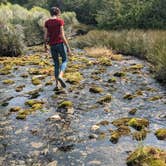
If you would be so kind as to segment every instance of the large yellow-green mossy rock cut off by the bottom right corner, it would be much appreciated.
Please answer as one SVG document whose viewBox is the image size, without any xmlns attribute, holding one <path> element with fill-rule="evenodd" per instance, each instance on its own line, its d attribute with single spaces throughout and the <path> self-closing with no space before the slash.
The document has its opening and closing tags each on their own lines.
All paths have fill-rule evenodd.
<svg viewBox="0 0 166 166">
<path fill-rule="evenodd" d="M 128 166 L 166 166 L 166 151 L 144 146 L 136 149 L 127 158 Z"/>
</svg>

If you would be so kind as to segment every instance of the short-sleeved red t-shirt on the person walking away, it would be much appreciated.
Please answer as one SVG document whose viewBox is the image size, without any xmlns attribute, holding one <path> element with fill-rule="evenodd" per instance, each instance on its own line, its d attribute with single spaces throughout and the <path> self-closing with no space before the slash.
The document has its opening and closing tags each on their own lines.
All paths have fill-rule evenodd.
<svg viewBox="0 0 166 166">
<path fill-rule="evenodd" d="M 62 43 L 63 39 L 60 34 L 60 27 L 64 25 L 64 21 L 60 18 L 49 19 L 45 22 L 47 28 L 49 45 Z"/>
</svg>

